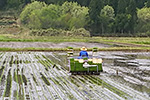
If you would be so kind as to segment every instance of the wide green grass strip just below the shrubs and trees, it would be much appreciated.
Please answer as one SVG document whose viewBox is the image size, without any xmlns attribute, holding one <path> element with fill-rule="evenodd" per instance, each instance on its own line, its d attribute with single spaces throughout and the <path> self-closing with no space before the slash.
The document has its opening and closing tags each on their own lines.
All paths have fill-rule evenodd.
<svg viewBox="0 0 150 100">
<path fill-rule="evenodd" d="M 61 37 L 61 36 L 25 36 L 1 34 L 0 41 L 3 42 L 91 42 L 91 43 L 133 43 L 133 44 L 150 44 L 149 37 Z"/>
</svg>

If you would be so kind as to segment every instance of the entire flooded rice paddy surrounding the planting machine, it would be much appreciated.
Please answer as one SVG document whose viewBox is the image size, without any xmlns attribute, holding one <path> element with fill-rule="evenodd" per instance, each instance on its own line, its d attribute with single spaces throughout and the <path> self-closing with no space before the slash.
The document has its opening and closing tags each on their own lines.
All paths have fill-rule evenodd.
<svg viewBox="0 0 150 100">
<path fill-rule="evenodd" d="M 98 55 L 100 75 L 71 75 L 65 52 L 0 52 L 0 100 L 150 100 L 150 52 Z"/>
</svg>

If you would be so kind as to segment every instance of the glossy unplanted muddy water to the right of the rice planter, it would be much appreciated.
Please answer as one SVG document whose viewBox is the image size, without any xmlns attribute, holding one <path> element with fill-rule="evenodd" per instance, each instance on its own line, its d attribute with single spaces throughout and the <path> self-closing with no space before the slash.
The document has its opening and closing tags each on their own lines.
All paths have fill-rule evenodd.
<svg viewBox="0 0 150 100">
<path fill-rule="evenodd" d="M 110 77 L 112 80 L 149 95 L 150 52 L 103 52 L 103 55 L 103 67 L 105 67 L 105 69 L 114 69 L 119 71 L 119 76 L 111 74 Z M 109 74 L 107 70 L 106 72 Z"/>
</svg>

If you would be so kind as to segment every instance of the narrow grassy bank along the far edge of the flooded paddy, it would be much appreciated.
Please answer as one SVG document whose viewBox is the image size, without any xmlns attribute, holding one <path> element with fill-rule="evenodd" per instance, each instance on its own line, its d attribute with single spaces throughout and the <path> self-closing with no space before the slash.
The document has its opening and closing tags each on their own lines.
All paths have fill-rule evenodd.
<svg viewBox="0 0 150 100">
<path fill-rule="evenodd" d="M 93 48 L 88 48 L 92 51 Z M 73 48 L 74 51 L 80 51 L 80 48 Z M 67 48 L 0 48 L 0 51 L 68 51 Z M 109 47 L 98 48 L 98 51 L 132 51 L 132 52 L 150 52 L 150 47 Z"/>
</svg>

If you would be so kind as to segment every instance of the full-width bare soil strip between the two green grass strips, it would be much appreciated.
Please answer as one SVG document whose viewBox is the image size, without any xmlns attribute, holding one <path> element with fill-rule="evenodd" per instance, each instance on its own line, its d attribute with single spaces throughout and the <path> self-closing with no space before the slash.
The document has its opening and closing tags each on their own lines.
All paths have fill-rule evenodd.
<svg viewBox="0 0 150 100">
<path fill-rule="evenodd" d="M 85 42 L 62 42 L 62 43 L 52 43 L 52 42 L 0 42 L 0 48 L 81 48 L 86 46 L 87 48 L 108 48 L 115 46 L 127 46 L 127 47 L 150 47 L 150 45 L 140 45 L 140 44 L 131 44 L 131 43 L 118 43 L 111 42 L 108 43 L 85 43 Z"/>
</svg>

